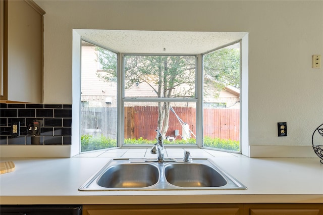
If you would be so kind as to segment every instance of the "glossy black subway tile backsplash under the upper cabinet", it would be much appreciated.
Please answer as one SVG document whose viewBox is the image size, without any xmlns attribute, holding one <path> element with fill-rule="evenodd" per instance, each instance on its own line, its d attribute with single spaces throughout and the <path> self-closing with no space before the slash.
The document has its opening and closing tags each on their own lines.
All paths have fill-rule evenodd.
<svg viewBox="0 0 323 215">
<path fill-rule="evenodd" d="M 28 136 L 27 125 L 42 121 L 39 136 Z M 11 135 L 13 122 L 20 122 L 20 135 Z M 71 104 L 0 103 L 1 145 L 70 145 L 72 142 Z"/>
</svg>

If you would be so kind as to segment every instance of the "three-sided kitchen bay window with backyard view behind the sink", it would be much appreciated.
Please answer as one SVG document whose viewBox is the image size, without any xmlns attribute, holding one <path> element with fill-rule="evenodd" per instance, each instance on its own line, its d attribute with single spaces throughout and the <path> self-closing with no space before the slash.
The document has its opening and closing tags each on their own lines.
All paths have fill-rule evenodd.
<svg viewBox="0 0 323 215">
<path fill-rule="evenodd" d="M 151 147 L 157 128 L 166 147 L 241 152 L 241 40 L 192 55 L 81 43 L 81 152 Z"/>
</svg>

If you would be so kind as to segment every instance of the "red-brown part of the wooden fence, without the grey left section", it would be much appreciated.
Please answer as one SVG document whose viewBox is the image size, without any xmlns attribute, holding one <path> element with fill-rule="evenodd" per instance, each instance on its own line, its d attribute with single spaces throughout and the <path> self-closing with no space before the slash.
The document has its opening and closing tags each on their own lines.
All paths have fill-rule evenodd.
<svg viewBox="0 0 323 215">
<path fill-rule="evenodd" d="M 173 109 L 176 115 L 188 124 L 190 132 L 195 135 L 195 109 L 186 107 L 173 107 Z M 170 112 L 169 129 L 166 136 L 173 137 L 175 130 L 179 130 L 179 134 L 182 135 L 182 125 L 176 115 Z M 240 110 L 204 109 L 203 115 L 204 136 L 239 141 Z M 157 120 L 157 106 L 125 107 L 125 138 L 154 139 L 156 137 Z M 191 137 L 194 138 L 193 134 L 191 134 Z"/>
</svg>

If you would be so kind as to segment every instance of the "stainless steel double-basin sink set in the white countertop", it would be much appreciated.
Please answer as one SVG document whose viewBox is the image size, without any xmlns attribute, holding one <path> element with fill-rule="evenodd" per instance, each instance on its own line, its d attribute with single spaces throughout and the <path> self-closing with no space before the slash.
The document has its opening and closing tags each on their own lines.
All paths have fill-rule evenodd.
<svg viewBox="0 0 323 215">
<path fill-rule="evenodd" d="M 81 191 L 246 189 L 210 159 L 149 162 L 112 159 L 85 182 Z"/>
</svg>

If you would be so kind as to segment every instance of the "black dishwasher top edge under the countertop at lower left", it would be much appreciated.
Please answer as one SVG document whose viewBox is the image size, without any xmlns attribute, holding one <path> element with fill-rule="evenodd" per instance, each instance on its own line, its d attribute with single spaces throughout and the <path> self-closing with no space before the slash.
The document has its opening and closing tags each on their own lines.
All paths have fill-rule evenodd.
<svg viewBox="0 0 323 215">
<path fill-rule="evenodd" d="M 1 215 L 82 215 L 82 205 L 0 205 Z"/>
</svg>

